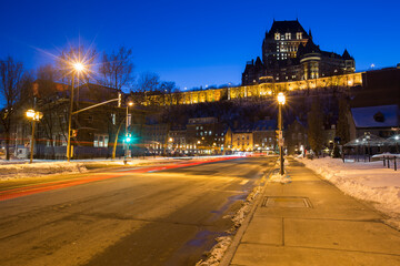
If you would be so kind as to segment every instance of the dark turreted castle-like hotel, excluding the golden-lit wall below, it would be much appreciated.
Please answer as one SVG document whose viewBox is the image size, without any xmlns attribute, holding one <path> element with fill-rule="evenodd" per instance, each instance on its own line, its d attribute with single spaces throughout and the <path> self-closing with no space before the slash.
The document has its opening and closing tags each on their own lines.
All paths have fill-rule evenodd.
<svg viewBox="0 0 400 266">
<path fill-rule="evenodd" d="M 284 82 L 353 73 L 354 65 L 347 50 L 342 54 L 322 51 L 311 30 L 307 33 L 298 20 L 273 21 L 262 42 L 262 60 L 247 63 L 242 85 L 262 83 L 263 76 Z"/>
</svg>

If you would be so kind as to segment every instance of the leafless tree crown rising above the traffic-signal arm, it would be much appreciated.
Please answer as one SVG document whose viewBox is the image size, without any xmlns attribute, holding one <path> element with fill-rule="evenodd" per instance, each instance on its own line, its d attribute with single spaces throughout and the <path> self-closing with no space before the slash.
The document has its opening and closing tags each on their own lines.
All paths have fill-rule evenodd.
<svg viewBox="0 0 400 266">
<path fill-rule="evenodd" d="M 133 69 L 131 49 L 121 47 L 118 52 L 103 53 L 99 69 L 100 83 L 117 90 L 130 88 L 134 80 Z"/>
</svg>

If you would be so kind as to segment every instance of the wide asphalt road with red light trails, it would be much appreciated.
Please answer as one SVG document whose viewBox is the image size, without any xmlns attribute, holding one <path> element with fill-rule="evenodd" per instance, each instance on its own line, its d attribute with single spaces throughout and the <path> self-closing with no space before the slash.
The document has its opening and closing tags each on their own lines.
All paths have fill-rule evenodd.
<svg viewBox="0 0 400 266">
<path fill-rule="evenodd" d="M 273 163 L 118 168 L 27 181 L 29 190 L 2 183 L 0 200 L 1 190 L 16 196 L 0 201 L 0 265 L 194 265 Z"/>
</svg>

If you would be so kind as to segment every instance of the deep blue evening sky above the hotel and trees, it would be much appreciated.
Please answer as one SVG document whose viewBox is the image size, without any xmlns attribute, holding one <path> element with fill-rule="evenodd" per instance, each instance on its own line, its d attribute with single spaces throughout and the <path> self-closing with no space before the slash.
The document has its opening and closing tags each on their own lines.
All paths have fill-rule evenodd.
<svg viewBox="0 0 400 266">
<path fill-rule="evenodd" d="M 0 58 L 28 69 L 51 62 L 69 43 L 133 50 L 136 73 L 156 72 L 178 86 L 239 84 L 246 62 L 261 57 L 266 30 L 293 20 L 322 50 L 347 48 L 357 70 L 400 62 L 400 1 L 7 1 L 0 6 Z"/>
</svg>

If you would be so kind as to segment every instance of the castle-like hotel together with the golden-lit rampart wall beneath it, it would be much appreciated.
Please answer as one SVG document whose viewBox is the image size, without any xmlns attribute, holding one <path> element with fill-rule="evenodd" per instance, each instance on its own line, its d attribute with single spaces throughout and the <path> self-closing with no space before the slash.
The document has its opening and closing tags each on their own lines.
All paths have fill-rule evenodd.
<svg viewBox="0 0 400 266">
<path fill-rule="evenodd" d="M 247 63 L 242 85 L 224 89 L 150 95 L 144 104 L 194 104 L 250 96 L 272 96 L 277 92 L 317 88 L 362 85 L 362 73 L 356 73 L 354 59 L 322 51 L 298 20 L 273 21 L 262 42 L 262 60 Z"/>
</svg>

